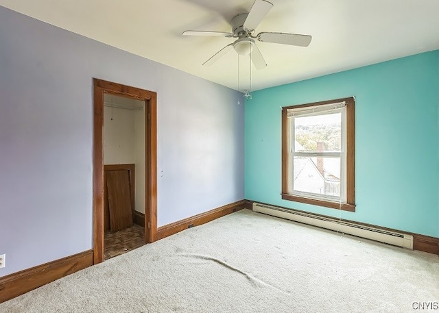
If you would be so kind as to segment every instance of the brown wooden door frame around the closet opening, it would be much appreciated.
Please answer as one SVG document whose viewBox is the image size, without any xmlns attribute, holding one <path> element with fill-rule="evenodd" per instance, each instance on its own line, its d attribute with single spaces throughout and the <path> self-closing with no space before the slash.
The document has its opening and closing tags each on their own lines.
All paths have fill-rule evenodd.
<svg viewBox="0 0 439 313">
<path fill-rule="evenodd" d="M 157 240 L 157 94 L 93 78 L 93 262 L 104 261 L 104 93 L 145 101 L 145 242 Z"/>
</svg>

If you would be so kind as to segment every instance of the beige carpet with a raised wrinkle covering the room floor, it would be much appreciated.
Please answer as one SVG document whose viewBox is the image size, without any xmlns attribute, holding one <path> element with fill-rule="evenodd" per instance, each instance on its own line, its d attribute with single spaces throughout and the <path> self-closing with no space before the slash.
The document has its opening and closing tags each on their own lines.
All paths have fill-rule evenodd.
<svg viewBox="0 0 439 313">
<path fill-rule="evenodd" d="M 0 312 L 418 312 L 429 301 L 439 301 L 437 255 L 242 210 L 1 303 Z"/>
</svg>

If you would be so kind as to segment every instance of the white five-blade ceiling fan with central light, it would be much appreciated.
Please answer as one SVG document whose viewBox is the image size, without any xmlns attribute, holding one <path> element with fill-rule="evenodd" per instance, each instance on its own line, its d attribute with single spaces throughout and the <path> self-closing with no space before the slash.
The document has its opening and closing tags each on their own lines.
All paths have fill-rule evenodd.
<svg viewBox="0 0 439 313">
<path fill-rule="evenodd" d="M 311 36 L 289 33 L 273 33 L 273 32 L 261 32 L 256 36 L 253 36 L 254 29 L 261 23 L 265 15 L 268 14 L 273 7 L 273 3 L 265 0 L 255 0 L 250 12 L 238 14 L 232 18 L 230 25 L 232 26 L 232 32 L 210 32 L 199 30 L 187 30 L 183 32 L 185 36 L 217 36 L 237 38 L 235 42 L 230 45 L 226 45 L 223 49 L 215 53 L 209 60 L 203 63 L 203 65 L 210 66 L 223 55 L 228 53 L 232 48 L 239 55 L 249 55 L 258 70 L 267 66 L 267 63 L 263 59 L 261 51 L 255 43 L 255 39 L 261 42 L 280 43 L 283 45 L 292 45 L 300 47 L 308 47 L 311 42 Z"/>
</svg>

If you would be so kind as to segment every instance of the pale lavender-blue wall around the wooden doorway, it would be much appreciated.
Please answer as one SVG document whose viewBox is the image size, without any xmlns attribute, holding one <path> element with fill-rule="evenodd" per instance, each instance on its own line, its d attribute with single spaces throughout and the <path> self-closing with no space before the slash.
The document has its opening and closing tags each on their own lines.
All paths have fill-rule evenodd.
<svg viewBox="0 0 439 313">
<path fill-rule="evenodd" d="M 0 277 L 92 249 L 92 77 L 157 92 L 158 226 L 244 199 L 239 92 L 0 7 Z"/>
</svg>

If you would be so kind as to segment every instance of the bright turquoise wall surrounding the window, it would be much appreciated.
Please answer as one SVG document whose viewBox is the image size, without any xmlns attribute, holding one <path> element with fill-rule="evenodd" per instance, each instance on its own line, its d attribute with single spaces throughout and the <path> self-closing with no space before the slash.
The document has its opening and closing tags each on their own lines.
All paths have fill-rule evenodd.
<svg viewBox="0 0 439 313">
<path fill-rule="evenodd" d="M 281 108 L 355 96 L 356 212 L 281 199 Z M 245 197 L 439 237 L 439 51 L 253 92 Z"/>
</svg>

